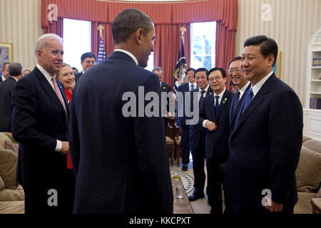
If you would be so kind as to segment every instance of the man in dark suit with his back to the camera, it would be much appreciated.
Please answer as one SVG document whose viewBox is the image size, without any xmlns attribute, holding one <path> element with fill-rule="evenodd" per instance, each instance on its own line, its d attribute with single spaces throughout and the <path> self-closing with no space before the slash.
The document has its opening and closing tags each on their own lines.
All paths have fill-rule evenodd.
<svg viewBox="0 0 321 228">
<path fill-rule="evenodd" d="M 148 102 L 141 100 L 148 92 L 161 97 L 158 77 L 143 69 L 153 51 L 154 29 L 143 12 L 121 11 L 112 24 L 115 50 L 73 90 L 75 213 L 173 213 L 163 118 L 147 117 Z"/>
</svg>

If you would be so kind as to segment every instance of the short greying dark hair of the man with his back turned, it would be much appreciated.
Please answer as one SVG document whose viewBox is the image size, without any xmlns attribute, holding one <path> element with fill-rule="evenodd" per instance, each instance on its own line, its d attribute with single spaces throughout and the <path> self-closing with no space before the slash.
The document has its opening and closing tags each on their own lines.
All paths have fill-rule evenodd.
<svg viewBox="0 0 321 228">
<path fill-rule="evenodd" d="M 121 11 L 111 25 L 113 43 L 118 44 L 127 41 L 131 34 L 139 28 L 143 29 L 143 35 L 146 36 L 153 28 L 153 21 L 138 9 L 125 9 Z"/>
</svg>

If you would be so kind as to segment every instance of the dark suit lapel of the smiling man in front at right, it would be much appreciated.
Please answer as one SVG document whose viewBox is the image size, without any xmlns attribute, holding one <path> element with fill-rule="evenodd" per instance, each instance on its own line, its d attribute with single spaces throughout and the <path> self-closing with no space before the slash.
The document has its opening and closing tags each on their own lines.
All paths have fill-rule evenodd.
<svg viewBox="0 0 321 228">
<path fill-rule="evenodd" d="M 242 125 L 244 120 L 246 120 L 246 118 L 248 118 L 248 115 L 250 115 L 250 113 L 252 113 L 253 110 L 255 110 L 255 108 L 258 105 L 260 105 L 260 103 L 263 102 L 265 94 L 270 92 L 270 87 L 272 86 L 273 81 L 275 81 L 276 79 L 277 78 L 276 78 L 275 74 L 273 73 L 270 76 L 270 78 L 268 78 L 267 81 L 263 84 L 263 86 L 260 88 L 258 93 L 255 95 L 255 97 L 253 98 L 251 103 L 248 105 L 248 108 L 245 109 L 243 115 L 240 116 L 240 120 L 238 121 L 238 126 L 236 126 L 234 133 L 236 132 L 236 130 L 238 130 L 238 128 L 240 128 L 240 125 Z"/>
</svg>

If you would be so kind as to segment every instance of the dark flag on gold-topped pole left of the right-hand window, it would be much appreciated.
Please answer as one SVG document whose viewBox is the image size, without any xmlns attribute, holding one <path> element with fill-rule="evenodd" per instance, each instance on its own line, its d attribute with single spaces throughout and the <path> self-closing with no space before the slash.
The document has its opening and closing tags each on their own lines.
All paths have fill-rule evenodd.
<svg viewBox="0 0 321 228">
<path fill-rule="evenodd" d="M 180 27 L 181 36 L 180 36 L 180 52 L 178 54 L 178 61 L 176 62 L 175 71 L 174 71 L 174 93 L 178 90 L 180 83 L 185 81 L 185 72 L 187 70 L 186 58 L 184 53 L 184 32 L 186 28 L 184 26 Z"/>
</svg>

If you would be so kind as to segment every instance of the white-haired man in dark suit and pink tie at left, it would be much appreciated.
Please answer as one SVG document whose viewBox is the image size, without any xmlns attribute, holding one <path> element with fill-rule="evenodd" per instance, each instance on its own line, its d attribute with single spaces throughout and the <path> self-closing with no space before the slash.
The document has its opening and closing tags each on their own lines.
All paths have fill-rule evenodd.
<svg viewBox="0 0 321 228">
<path fill-rule="evenodd" d="M 17 181 L 24 187 L 26 214 L 71 213 L 68 103 L 55 78 L 63 63 L 63 42 L 48 33 L 38 38 L 34 50 L 38 64 L 16 83 L 11 97 L 11 130 L 19 142 Z"/>
</svg>

